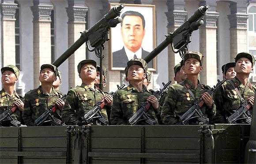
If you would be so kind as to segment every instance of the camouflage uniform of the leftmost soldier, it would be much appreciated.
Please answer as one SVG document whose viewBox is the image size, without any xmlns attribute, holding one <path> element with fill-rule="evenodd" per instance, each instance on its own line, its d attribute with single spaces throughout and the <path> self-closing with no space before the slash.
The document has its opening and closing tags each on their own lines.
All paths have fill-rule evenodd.
<svg viewBox="0 0 256 164">
<path fill-rule="evenodd" d="M 12 104 L 14 104 L 14 101 L 16 99 L 23 98 L 21 95 L 17 94 L 15 91 L 12 96 L 10 96 L 7 92 L 5 92 L 4 89 L 0 91 L 0 114 L 3 113 L 8 109 L 8 107 L 11 107 Z M 19 108 L 16 109 L 14 113 L 12 113 L 11 117 L 19 122 L 23 123 L 22 119 L 22 112 L 19 110 Z M 10 123 L 8 121 L 3 121 L 1 123 L 1 126 L 9 127 Z"/>
</svg>

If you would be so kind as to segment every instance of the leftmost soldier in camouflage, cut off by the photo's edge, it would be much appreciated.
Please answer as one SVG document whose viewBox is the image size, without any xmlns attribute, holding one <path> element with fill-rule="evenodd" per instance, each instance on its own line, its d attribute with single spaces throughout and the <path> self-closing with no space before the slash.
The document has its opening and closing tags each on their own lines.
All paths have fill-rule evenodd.
<svg viewBox="0 0 256 164">
<path fill-rule="evenodd" d="M 18 109 L 11 117 L 24 124 L 22 119 L 24 103 L 20 100 L 23 97 L 14 90 L 15 83 L 18 82 L 19 78 L 19 69 L 13 65 L 8 65 L 1 68 L 1 73 L 3 89 L 0 91 L 0 113 L 3 113 L 8 107 L 15 104 Z M 0 126 L 9 127 L 11 125 L 9 121 L 3 121 Z"/>
</svg>

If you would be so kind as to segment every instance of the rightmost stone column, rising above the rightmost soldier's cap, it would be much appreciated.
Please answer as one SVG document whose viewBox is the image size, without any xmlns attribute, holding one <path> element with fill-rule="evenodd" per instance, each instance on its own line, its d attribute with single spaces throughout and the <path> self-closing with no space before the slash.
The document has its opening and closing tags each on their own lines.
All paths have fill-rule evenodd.
<svg viewBox="0 0 256 164">
<path fill-rule="evenodd" d="M 230 61 L 239 52 L 247 51 L 247 0 L 239 0 L 230 4 L 228 19 L 230 20 Z"/>
</svg>

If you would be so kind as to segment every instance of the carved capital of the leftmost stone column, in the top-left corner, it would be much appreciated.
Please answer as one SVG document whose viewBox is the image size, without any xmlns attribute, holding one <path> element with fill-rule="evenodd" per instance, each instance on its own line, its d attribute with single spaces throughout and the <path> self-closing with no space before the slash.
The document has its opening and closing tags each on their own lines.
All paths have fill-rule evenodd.
<svg viewBox="0 0 256 164">
<path fill-rule="evenodd" d="M 1 3 L 2 19 L 15 19 L 16 8 L 18 4 L 13 1 L 3 1 Z"/>
</svg>

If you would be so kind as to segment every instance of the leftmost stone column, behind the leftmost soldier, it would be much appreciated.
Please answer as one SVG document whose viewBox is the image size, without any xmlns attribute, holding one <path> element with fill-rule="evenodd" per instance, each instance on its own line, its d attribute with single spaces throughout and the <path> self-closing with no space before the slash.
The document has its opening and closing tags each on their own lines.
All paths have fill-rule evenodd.
<svg viewBox="0 0 256 164">
<path fill-rule="evenodd" d="M 14 0 L 3 0 L 1 3 L 2 24 L 2 66 L 15 65 L 15 12 L 17 4 Z"/>
</svg>

